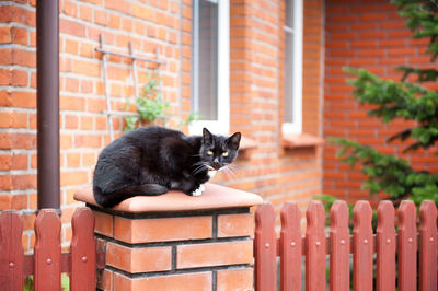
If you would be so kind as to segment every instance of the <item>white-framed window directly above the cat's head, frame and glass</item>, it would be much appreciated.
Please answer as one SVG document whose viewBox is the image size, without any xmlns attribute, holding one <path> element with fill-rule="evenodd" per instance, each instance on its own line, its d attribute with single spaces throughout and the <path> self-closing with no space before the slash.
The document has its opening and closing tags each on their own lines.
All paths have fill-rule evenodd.
<svg viewBox="0 0 438 291">
<path fill-rule="evenodd" d="M 207 127 L 228 135 L 230 128 L 229 93 L 229 1 L 193 1 L 193 88 L 192 110 L 200 121 L 191 125 L 191 133 Z"/>
</svg>

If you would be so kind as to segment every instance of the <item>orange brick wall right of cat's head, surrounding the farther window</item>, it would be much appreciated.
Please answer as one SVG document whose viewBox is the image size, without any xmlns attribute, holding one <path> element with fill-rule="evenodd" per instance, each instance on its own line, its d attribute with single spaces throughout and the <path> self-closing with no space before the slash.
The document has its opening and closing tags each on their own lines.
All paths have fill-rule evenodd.
<svg viewBox="0 0 438 291">
<path fill-rule="evenodd" d="M 306 202 L 321 194 L 318 148 L 283 148 L 284 1 L 230 3 L 231 130 L 257 141 L 237 165 L 241 172 L 226 185 L 260 194 L 277 211 L 287 200 Z M 303 131 L 321 135 L 323 2 L 303 7 Z"/>
</svg>

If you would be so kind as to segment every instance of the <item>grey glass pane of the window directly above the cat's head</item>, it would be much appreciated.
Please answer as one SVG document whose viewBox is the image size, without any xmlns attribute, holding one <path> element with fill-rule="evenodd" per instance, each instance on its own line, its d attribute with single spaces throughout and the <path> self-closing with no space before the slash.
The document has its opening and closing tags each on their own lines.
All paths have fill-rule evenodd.
<svg viewBox="0 0 438 291">
<path fill-rule="evenodd" d="M 199 0 L 198 110 L 205 120 L 218 118 L 218 5 Z"/>
</svg>

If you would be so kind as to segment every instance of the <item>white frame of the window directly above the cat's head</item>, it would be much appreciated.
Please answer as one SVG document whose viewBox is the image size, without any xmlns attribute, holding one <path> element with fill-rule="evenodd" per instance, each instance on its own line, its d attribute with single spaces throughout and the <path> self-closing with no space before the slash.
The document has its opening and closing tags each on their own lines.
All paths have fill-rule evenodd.
<svg viewBox="0 0 438 291">
<path fill-rule="evenodd" d="M 206 127 L 214 133 L 228 135 L 230 130 L 230 4 L 229 0 L 207 0 L 218 4 L 218 119 L 195 120 L 191 123 L 188 131 L 191 135 L 201 135 Z M 197 112 L 198 95 L 198 19 L 199 0 L 194 0 L 193 10 L 193 90 L 194 103 L 192 108 Z"/>
</svg>

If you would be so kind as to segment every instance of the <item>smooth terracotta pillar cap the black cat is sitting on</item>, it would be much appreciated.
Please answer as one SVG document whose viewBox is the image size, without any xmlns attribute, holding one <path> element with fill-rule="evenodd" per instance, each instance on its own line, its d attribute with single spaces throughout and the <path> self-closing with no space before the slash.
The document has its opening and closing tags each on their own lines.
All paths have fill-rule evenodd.
<svg viewBox="0 0 438 291">
<path fill-rule="evenodd" d="M 252 207 L 263 203 L 263 199 L 256 194 L 210 183 L 205 184 L 205 188 L 203 195 L 198 197 L 188 196 L 176 190 L 171 190 L 160 196 L 136 196 L 122 201 L 111 210 L 131 213 L 177 212 Z M 74 199 L 100 207 L 94 200 L 91 188 L 77 191 Z"/>
</svg>

